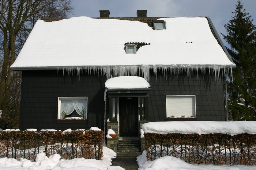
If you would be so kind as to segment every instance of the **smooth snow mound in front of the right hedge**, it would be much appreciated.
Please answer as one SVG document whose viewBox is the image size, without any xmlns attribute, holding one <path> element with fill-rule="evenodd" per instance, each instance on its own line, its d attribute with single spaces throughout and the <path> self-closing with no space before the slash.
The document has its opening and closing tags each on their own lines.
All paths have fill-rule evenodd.
<svg viewBox="0 0 256 170">
<path fill-rule="evenodd" d="M 173 156 L 147 161 L 146 151 L 137 158 L 139 170 L 256 170 L 256 166 L 245 165 L 192 165 Z"/>
</svg>

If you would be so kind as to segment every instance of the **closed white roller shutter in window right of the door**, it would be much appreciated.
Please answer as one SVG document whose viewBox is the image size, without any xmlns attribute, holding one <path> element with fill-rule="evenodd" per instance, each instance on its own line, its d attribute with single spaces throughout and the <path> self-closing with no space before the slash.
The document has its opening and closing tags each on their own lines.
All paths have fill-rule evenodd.
<svg viewBox="0 0 256 170">
<path fill-rule="evenodd" d="M 174 117 L 196 117 L 195 95 L 190 96 L 166 96 L 167 118 Z"/>
</svg>

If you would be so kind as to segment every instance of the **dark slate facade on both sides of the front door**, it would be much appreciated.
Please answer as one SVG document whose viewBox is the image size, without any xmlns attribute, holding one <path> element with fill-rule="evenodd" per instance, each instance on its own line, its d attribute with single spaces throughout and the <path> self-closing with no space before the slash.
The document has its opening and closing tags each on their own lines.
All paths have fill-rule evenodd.
<svg viewBox="0 0 256 170">
<path fill-rule="evenodd" d="M 22 71 L 20 129 L 103 129 L 105 81 L 106 76 L 93 71 L 80 76 L 76 71 L 70 75 L 62 70 Z M 152 71 L 148 82 L 148 121 L 165 121 L 166 95 L 196 95 L 197 120 L 225 120 L 224 78 L 214 79 L 207 72 L 166 76 L 159 71 L 155 79 Z M 88 97 L 87 123 L 57 123 L 58 97 L 77 96 Z"/>
</svg>

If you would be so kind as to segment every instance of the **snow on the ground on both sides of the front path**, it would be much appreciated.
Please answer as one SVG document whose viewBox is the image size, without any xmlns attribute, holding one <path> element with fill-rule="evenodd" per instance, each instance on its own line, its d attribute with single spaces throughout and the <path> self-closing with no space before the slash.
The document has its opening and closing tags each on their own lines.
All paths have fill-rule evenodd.
<svg viewBox="0 0 256 170">
<path fill-rule="evenodd" d="M 49 158 L 44 153 L 37 154 L 35 162 L 27 159 L 0 158 L 1 170 L 124 170 L 120 166 L 111 166 L 116 153 L 103 147 L 102 160 L 75 158 L 60 160 L 60 155 L 54 154 Z M 165 156 L 154 161 L 147 161 L 146 152 L 137 158 L 139 170 L 256 170 L 256 166 L 245 165 L 192 165 L 173 156 Z"/>
</svg>

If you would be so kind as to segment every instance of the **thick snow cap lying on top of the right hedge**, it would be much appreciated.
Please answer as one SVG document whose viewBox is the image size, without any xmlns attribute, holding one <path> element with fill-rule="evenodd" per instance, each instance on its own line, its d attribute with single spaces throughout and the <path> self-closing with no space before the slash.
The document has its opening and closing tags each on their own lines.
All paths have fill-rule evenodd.
<svg viewBox="0 0 256 170">
<path fill-rule="evenodd" d="M 212 134 L 223 133 L 236 135 L 241 133 L 256 134 L 256 121 L 213 122 L 150 122 L 142 125 L 144 133 L 181 133 L 181 134 Z"/>
</svg>

